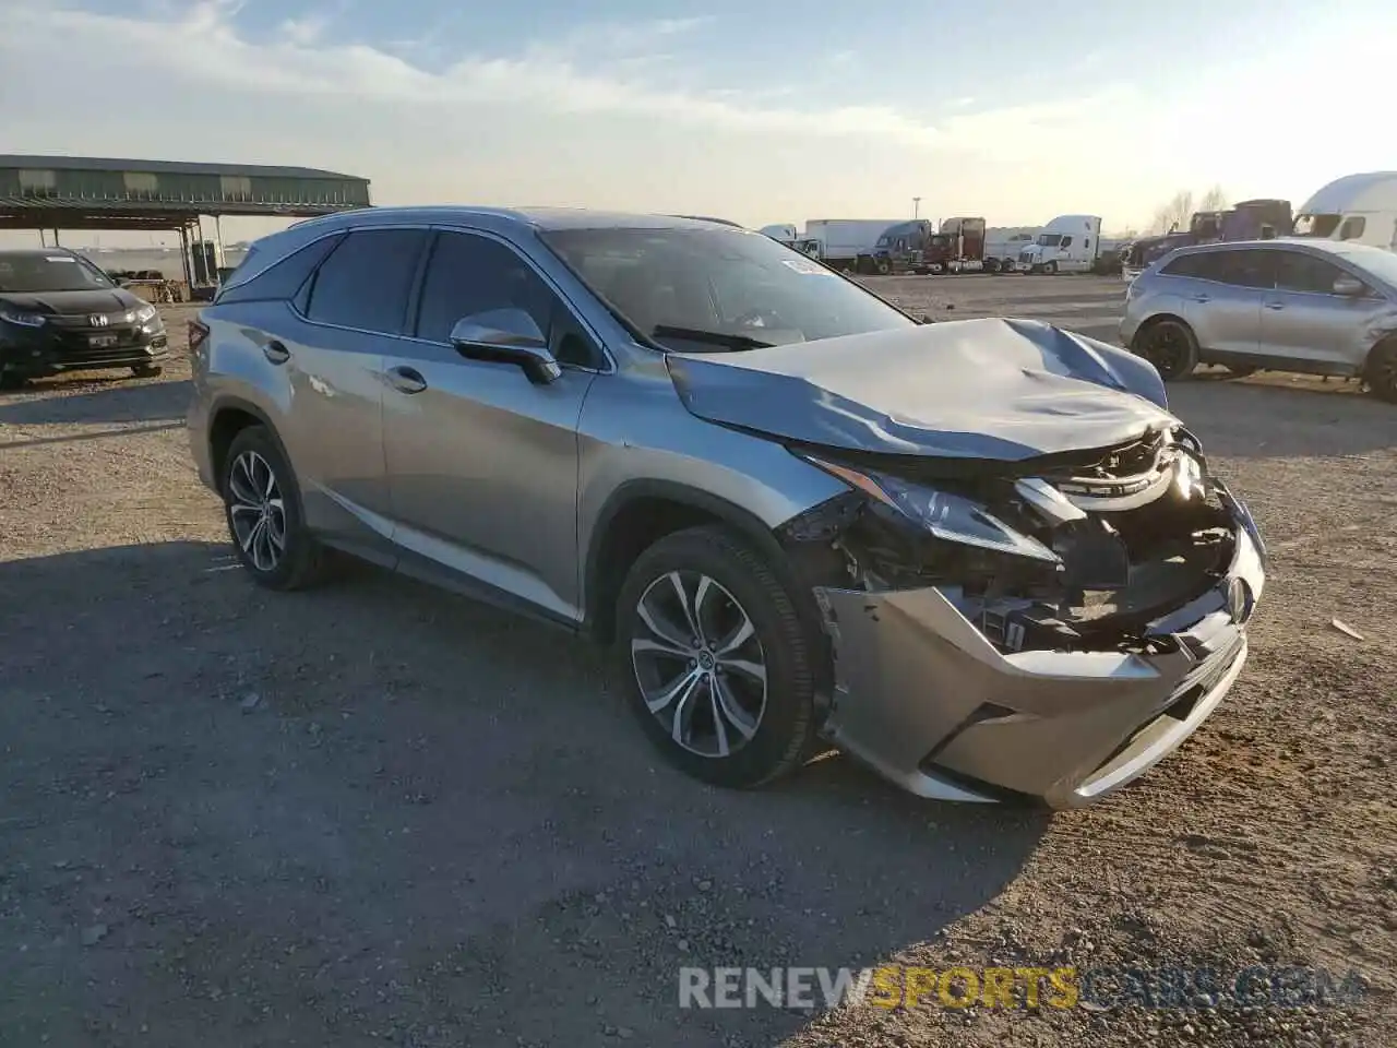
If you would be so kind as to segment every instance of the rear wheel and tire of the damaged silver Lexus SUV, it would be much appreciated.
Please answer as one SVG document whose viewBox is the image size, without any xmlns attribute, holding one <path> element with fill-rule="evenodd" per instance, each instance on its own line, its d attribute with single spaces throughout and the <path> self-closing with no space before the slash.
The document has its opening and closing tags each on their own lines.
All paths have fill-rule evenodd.
<svg viewBox="0 0 1397 1048">
<path fill-rule="evenodd" d="M 271 485 L 265 471 L 271 472 Z M 268 590 L 302 590 L 323 580 L 327 551 L 306 528 L 296 475 L 267 429 L 247 426 L 233 437 L 218 488 L 224 495 L 224 520 L 233 551 L 253 581 Z M 265 493 L 270 497 L 263 518 L 251 506 Z M 279 500 L 279 510 L 275 500 Z M 249 518 L 254 521 L 251 525 Z M 278 518 L 279 549 L 275 542 Z M 253 534 L 258 527 L 263 528 L 261 539 Z"/>
</svg>

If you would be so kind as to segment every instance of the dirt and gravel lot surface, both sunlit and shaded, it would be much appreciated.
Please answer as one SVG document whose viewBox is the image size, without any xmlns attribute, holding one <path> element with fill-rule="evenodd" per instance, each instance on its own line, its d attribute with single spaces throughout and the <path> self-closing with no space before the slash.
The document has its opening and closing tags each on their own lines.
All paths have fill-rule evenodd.
<svg viewBox="0 0 1397 1048">
<path fill-rule="evenodd" d="M 1119 281 L 870 281 L 1113 337 Z M 0 1045 L 1397 1044 L 1397 408 L 1204 377 L 1253 657 L 1083 812 L 657 763 L 587 644 L 365 569 L 272 595 L 158 380 L 0 395 Z M 1356 640 L 1331 625 L 1340 619 Z M 680 1010 L 680 966 L 1306 966 L 1345 1006 Z"/>
</svg>

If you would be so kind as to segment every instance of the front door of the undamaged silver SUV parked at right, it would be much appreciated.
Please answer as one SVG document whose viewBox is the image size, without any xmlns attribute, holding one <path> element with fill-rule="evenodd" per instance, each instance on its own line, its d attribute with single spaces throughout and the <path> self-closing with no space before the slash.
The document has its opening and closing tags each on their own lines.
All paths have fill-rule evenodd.
<svg viewBox="0 0 1397 1048">
<path fill-rule="evenodd" d="M 1278 250 L 1275 288 L 1261 309 L 1261 354 L 1305 363 L 1305 369 L 1351 373 L 1366 354 L 1366 319 L 1382 299 L 1336 295 L 1340 265 L 1305 252 Z"/>
</svg>

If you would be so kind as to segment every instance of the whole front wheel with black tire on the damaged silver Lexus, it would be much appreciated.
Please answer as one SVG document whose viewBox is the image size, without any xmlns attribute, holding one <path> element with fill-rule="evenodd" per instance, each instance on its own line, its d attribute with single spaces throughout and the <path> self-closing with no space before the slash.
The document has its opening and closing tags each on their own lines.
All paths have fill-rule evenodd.
<svg viewBox="0 0 1397 1048">
<path fill-rule="evenodd" d="M 693 633 L 687 625 L 672 625 L 687 623 L 683 608 L 697 605 L 701 612 L 697 647 L 693 636 L 678 636 Z M 750 789 L 788 774 L 809 755 L 816 732 L 814 647 L 775 570 L 739 535 L 698 527 L 659 539 L 626 574 L 616 612 L 616 669 L 627 704 L 669 763 L 712 785 Z M 745 633 L 743 622 L 750 636 L 724 658 L 724 641 L 708 633 L 731 644 Z M 764 668 L 764 682 L 752 667 Z M 661 701 L 657 711 L 647 694 Z M 676 728 L 685 708 L 692 711 L 687 724 Z M 676 732 L 687 738 L 676 741 Z"/>
</svg>

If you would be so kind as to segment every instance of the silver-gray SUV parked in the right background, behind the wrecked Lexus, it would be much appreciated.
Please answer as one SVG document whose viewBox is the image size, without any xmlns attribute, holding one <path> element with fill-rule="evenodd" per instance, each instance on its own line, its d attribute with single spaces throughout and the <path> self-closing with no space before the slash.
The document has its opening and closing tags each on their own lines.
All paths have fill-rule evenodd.
<svg viewBox="0 0 1397 1048">
<path fill-rule="evenodd" d="M 1220 363 L 1362 379 L 1397 401 L 1397 254 L 1340 240 L 1183 247 L 1130 284 L 1120 341 L 1165 380 Z"/>
</svg>

